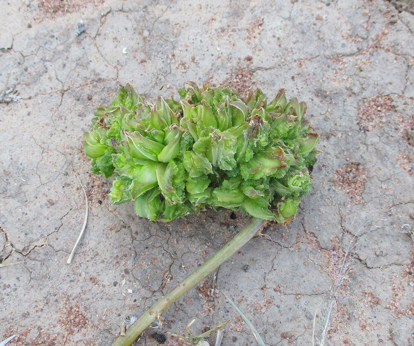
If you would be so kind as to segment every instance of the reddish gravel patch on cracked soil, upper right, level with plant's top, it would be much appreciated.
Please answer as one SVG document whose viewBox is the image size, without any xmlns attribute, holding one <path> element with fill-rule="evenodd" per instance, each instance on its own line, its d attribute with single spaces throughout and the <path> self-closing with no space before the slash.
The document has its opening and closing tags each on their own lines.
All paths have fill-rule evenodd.
<svg viewBox="0 0 414 346">
<path fill-rule="evenodd" d="M 386 113 L 395 111 L 392 105 L 394 100 L 390 95 L 374 96 L 365 99 L 362 107 L 358 111 L 358 125 L 361 131 L 371 131 L 378 126 L 379 123 L 386 121 Z"/>
</svg>

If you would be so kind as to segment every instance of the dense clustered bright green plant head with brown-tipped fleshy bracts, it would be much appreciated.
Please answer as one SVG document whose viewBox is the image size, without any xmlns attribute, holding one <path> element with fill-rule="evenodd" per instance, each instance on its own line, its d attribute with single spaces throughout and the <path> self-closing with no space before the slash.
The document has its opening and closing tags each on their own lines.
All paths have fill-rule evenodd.
<svg viewBox="0 0 414 346">
<path fill-rule="evenodd" d="M 146 104 L 130 85 L 98 107 L 84 133 L 92 171 L 113 176 L 113 204 L 133 201 L 138 216 L 171 221 L 224 207 L 286 224 L 310 188 L 318 135 L 306 104 L 286 90 L 267 102 L 231 88 L 187 82 L 180 99 Z"/>
</svg>

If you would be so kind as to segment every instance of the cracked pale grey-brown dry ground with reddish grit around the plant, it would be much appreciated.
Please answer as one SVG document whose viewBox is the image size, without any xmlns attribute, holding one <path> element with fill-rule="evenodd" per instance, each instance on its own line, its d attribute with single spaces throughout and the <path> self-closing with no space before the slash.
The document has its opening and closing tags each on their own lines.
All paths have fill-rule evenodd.
<svg viewBox="0 0 414 346">
<path fill-rule="evenodd" d="M 185 81 L 242 94 L 279 88 L 308 104 L 322 153 L 296 221 L 251 240 L 163 316 L 222 345 L 321 337 L 349 240 L 326 345 L 414 345 L 414 15 L 383 0 L 0 0 L 0 341 L 111 345 L 247 219 L 207 211 L 165 224 L 111 206 L 82 133 L 131 83 L 148 100 Z M 85 31 L 75 33 L 83 20 Z M 16 100 L 16 102 L 7 102 Z M 89 219 L 72 264 L 66 260 Z M 236 216 L 236 218 L 234 218 Z M 214 294 L 212 294 L 214 288 Z M 132 292 L 132 293 L 131 293 Z M 325 308 L 324 308 L 325 307 Z M 166 334 L 166 345 L 183 342 Z M 207 341 L 214 345 L 215 333 Z M 144 334 L 136 345 L 157 345 Z M 319 341 L 315 339 L 315 345 Z"/>
</svg>

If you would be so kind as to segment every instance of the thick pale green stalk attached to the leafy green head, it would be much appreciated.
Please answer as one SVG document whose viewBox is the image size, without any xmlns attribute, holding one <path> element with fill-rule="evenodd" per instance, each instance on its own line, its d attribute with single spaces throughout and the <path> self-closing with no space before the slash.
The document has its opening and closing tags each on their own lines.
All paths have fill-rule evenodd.
<svg viewBox="0 0 414 346">
<path fill-rule="evenodd" d="M 171 304 L 176 302 L 183 294 L 200 282 L 204 277 L 216 269 L 219 265 L 229 259 L 238 249 L 246 244 L 266 223 L 266 220 L 252 218 L 230 242 L 205 261 L 193 273 L 181 281 L 172 291 L 163 296 L 152 308 L 147 310 L 125 333 L 118 337 L 112 346 L 130 346 L 137 337 Z"/>
</svg>

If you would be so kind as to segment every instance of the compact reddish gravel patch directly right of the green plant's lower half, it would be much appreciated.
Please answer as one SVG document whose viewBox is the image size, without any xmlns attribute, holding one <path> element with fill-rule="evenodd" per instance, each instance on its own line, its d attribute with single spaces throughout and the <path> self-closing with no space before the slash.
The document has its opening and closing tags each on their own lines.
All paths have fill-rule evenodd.
<svg viewBox="0 0 414 346">
<path fill-rule="evenodd" d="M 342 192 L 349 194 L 352 204 L 359 204 L 363 201 L 362 192 L 364 183 L 367 181 L 366 171 L 358 163 L 342 166 L 336 171 L 333 178 L 335 186 Z"/>
</svg>

